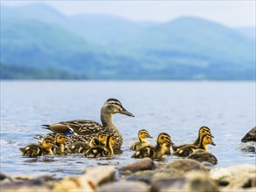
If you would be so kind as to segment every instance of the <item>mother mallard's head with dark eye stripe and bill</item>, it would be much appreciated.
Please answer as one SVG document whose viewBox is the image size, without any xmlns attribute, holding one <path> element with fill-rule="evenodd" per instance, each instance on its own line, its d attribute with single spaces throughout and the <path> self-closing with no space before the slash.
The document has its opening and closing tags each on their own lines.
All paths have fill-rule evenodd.
<svg viewBox="0 0 256 192">
<path fill-rule="evenodd" d="M 101 108 L 101 111 L 108 114 L 121 113 L 131 117 L 135 115 L 133 113 L 129 113 L 122 105 L 118 99 L 107 99 L 104 105 Z"/>
</svg>

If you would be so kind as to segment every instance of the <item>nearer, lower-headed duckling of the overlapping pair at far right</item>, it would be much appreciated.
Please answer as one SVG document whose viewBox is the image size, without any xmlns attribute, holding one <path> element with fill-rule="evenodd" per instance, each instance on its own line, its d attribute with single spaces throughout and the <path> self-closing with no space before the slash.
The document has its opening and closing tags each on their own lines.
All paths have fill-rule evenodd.
<svg viewBox="0 0 256 192">
<path fill-rule="evenodd" d="M 204 134 L 204 136 L 201 138 L 201 141 L 199 142 L 199 145 L 186 145 L 185 147 L 178 148 L 176 150 L 175 155 L 178 156 L 189 156 L 191 153 L 193 153 L 196 149 L 204 149 L 205 151 L 208 151 L 207 145 L 211 144 L 213 146 L 216 146 L 215 143 L 212 141 L 211 134 Z"/>
</svg>

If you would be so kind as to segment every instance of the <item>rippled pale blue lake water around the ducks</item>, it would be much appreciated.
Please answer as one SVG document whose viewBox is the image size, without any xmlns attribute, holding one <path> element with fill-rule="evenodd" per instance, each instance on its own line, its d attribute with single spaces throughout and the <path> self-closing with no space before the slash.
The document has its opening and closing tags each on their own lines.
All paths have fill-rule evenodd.
<svg viewBox="0 0 256 192">
<path fill-rule="evenodd" d="M 86 159 L 80 154 L 25 158 L 19 147 L 37 143 L 35 134 L 49 131 L 40 125 L 62 120 L 100 122 L 100 107 L 108 98 L 119 99 L 135 118 L 114 114 L 123 134 L 122 154 L 111 159 Z M 198 128 L 207 126 L 216 146 L 209 150 L 217 167 L 249 163 L 255 153 L 239 150 L 241 138 L 255 126 L 255 82 L 176 81 L 2 81 L 1 170 L 9 175 L 78 175 L 87 166 L 135 161 L 128 147 L 144 128 L 154 138 L 161 132 L 176 144 L 194 141 Z M 174 161 L 167 156 L 163 163 Z"/>
</svg>

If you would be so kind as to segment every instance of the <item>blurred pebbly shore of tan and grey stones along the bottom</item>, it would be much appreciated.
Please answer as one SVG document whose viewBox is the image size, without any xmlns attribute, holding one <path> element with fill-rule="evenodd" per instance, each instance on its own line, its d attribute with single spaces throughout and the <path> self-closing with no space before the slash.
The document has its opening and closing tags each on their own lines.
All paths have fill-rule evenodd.
<svg viewBox="0 0 256 192">
<path fill-rule="evenodd" d="M 29 177 L 1 172 L 1 192 L 232 192 L 256 191 L 256 167 L 215 168 L 190 159 L 161 164 L 144 158 L 124 167 L 87 167 L 82 175 Z"/>
</svg>

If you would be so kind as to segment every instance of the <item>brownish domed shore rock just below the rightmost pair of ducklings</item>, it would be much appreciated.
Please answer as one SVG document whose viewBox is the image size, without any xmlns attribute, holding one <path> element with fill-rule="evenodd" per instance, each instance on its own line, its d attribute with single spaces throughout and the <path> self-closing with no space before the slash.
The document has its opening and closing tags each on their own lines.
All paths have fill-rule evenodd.
<svg viewBox="0 0 256 192">
<path fill-rule="evenodd" d="M 205 168 L 202 163 L 190 159 L 172 161 L 167 165 L 167 168 L 176 168 L 180 173 L 186 173 L 192 170 L 200 170 L 205 173 L 208 172 L 207 168 Z"/>
</svg>

